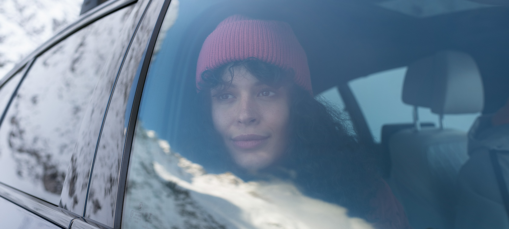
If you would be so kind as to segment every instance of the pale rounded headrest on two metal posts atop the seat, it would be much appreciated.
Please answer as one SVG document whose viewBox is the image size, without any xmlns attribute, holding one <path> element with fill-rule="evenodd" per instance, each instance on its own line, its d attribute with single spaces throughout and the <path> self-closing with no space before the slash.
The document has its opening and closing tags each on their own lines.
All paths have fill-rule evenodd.
<svg viewBox="0 0 509 229">
<path fill-rule="evenodd" d="M 405 76 L 403 102 L 429 107 L 439 115 L 481 111 L 484 89 L 475 61 L 451 50 L 416 61 Z"/>
</svg>

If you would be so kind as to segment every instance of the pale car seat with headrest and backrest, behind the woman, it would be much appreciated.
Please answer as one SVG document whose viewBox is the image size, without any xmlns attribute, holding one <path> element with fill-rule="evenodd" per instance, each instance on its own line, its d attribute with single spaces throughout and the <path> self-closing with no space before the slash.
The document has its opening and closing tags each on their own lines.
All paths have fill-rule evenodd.
<svg viewBox="0 0 509 229">
<path fill-rule="evenodd" d="M 446 114 L 483 108 L 483 85 L 470 55 L 441 51 L 411 64 L 403 102 L 414 106 L 414 128 L 389 139 L 390 183 L 414 228 L 453 228 L 457 174 L 467 156 L 467 133 L 443 128 Z M 421 127 L 417 107 L 431 108 L 439 127 Z"/>
</svg>

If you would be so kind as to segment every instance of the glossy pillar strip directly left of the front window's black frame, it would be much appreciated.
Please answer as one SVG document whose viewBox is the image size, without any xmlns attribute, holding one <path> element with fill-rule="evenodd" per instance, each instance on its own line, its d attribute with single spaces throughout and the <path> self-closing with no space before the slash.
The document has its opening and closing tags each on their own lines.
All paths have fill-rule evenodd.
<svg viewBox="0 0 509 229">
<path fill-rule="evenodd" d="M 164 1 L 153 1 L 139 24 L 115 83 L 97 148 L 85 217 L 113 227 L 126 138 L 129 92 Z M 129 104 L 130 107 L 130 104 Z M 123 185 L 123 184 L 122 184 Z"/>
</svg>

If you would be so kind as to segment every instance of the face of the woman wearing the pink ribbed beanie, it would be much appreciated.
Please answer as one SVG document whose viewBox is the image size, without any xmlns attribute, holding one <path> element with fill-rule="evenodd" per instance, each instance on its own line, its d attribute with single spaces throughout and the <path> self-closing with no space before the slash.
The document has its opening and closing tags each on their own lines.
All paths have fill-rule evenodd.
<svg viewBox="0 0 509 229">
<path fill-rule="evenodd" d="M 288 87 L 269 87 L 242 66 L 231 87 L 212 90 L 212 120 L 235 162 L 250 171 L 265 168 L 285 153 L 290 116 Z M 228 80 L 227 71 L 223 77 Z"/>
</svg>

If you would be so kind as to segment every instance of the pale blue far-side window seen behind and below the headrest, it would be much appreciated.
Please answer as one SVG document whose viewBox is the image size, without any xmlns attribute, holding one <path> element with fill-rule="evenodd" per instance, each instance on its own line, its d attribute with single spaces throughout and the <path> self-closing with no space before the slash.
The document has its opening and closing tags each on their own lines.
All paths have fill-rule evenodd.
<svg viewBox="0 0 509 229">
<path fill-rule="evenodd" d="M 407 68 L 395 68 L 360 77 L 349 82 L 375 141 L 380 142 L 385 124 L 412 123 L 412 105 L 403 103 L 401 96 Z M 419 120 L 438 126 L 438 115 L 430 108 L 419 107 Z M 468 131 L 479 112 L 445 115 L 446 128 Z"/>
</svg>

